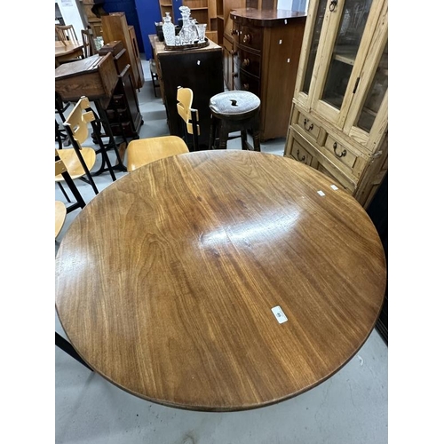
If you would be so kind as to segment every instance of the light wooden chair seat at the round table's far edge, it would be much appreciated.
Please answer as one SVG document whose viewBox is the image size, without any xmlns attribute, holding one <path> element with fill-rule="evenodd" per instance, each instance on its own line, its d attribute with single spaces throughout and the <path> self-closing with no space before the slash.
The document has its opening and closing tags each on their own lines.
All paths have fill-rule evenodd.
<svg viewBox="0 0 444 444">
<path fill-rule="evenodd" d="M 147 163 L 158 161 L 170 155 L 188 153 L 184 140 L 178 136 L 161 136 L 149 139 L 133 139 L 128 144 L 127 170 L 137 170 Z"/>
</svg>

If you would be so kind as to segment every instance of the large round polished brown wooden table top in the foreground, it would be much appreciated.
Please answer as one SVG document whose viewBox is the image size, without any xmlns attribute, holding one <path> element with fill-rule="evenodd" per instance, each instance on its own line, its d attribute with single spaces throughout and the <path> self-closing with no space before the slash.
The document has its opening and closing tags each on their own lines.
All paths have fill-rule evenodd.
<svg viewBox="0 0 444 444">
<path fill-rule="evenodd" d="M 320 384 L 369 337 L 386 279 L 375 227 L 332 184 L 242 150 L 120 178 L 60 242 L 67 337 L 107 380 L 172 407 L 257 408 Z"/>
</svg>

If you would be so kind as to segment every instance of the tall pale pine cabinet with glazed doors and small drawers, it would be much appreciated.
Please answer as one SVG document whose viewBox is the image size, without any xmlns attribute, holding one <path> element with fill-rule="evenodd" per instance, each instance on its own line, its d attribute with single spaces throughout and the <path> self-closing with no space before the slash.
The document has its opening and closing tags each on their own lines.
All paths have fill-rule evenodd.
<svg viewBox="0 0 444 444">
<path fill-rule="evenodd" d="M 387 0 L 311 0 L 284 155 L 364 208 L 388 170 Z"/>
</svg>

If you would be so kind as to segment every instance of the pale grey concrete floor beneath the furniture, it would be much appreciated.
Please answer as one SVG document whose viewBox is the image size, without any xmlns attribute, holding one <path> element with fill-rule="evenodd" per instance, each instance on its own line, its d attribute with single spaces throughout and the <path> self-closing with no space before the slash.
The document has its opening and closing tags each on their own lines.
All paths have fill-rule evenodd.
<svg viewBox="0 0 444 444">
<path fill-rule="evenodd" d="M 143 60 L 146 79 L 150 79 Z M 140 137 L 168 134 L 162 99 L 152 83 L 139 91 Z M 283 154 L 284 139 L 261 146 Z M 239 149 L 240 139 L 228 149 Z M 119 172 L 117 177 L 121 177 Z M 99 190 L 108 173 L 95 178 Z M 86 202 L 91 186 L 76 181 Z M 56 199 L 63 201 L 59 188 Z M 59 242 L 79 210 L 67 215 Z M 55 329 L 65 337 L 55 315 Z M 327 381 L 274 406 L 234 413 L 202 413 L 141 400 L 110 384 L 55 347 L 55 442 L 94 444 L 384 444 L 388 442 L 388 348 L 374 330 L 361 350 Z"/>
</svg>

